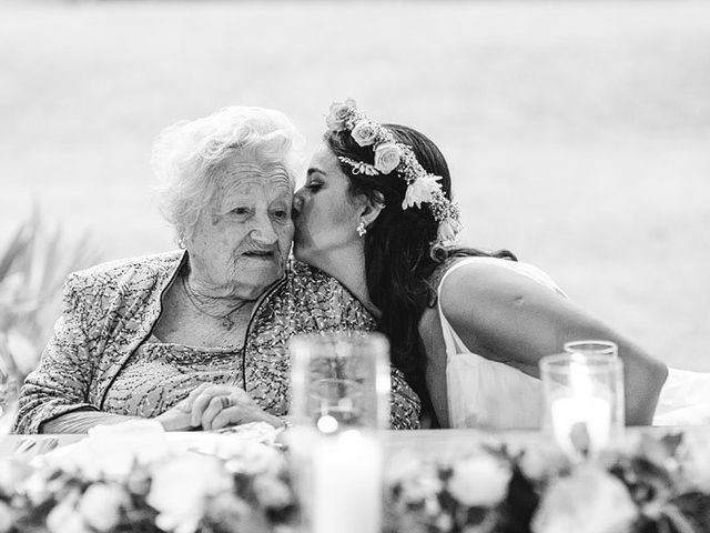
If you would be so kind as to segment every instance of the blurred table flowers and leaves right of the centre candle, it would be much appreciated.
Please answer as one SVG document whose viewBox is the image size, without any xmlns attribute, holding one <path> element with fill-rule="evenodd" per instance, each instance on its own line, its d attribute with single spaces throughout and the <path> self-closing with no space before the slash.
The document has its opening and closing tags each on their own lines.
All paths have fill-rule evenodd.
<svg viewBox="0 0 710 533">
<path fill-rule="evenodd" d="M 388 533 L 702 533 L 710 531 L 710 439 L 646 436 L 599 462 L 554 447 L 478 446 L 464 457 L 394 457 Z"/>
</svg>

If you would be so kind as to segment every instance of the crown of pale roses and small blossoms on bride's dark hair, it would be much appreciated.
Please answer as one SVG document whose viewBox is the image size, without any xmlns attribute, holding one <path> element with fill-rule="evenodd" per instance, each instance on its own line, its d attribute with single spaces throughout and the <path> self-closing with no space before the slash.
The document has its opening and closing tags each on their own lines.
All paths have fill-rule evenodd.
<svg viewBox="0 0 710 533">
<path fill-rule="evenodd" d="M 420 208 L 422 203 L 428 203 L 434 220 L 439 224 L 433 244 L 448 245 L 456 241 L 460 231 L 458 205 L 444 195 L 438 183 L 442 177 L 424 170 L 412 147 L 397 142 L 392 131 L 369 120 L 352 99 L 332 103 L 325 123 L 334 132 L 349 131 L 361 147 L 373 147 L 374 164 L 338 157 L 341 162 L 353 168 L 354 174 L 379 175 L 396 171 L 407 183 L 402 209 L 413 205 Z"/>
</svg>

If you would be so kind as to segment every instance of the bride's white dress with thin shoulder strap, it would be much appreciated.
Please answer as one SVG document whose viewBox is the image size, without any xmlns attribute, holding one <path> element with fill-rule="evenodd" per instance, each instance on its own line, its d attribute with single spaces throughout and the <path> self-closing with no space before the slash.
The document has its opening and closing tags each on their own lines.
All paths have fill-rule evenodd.
<svg viewBox="0 0 710 533">
<path fill-rule="evenodd" d="M 508 364 L 471 353 L 442 312 L 442 286 L 456 269 L 470 263 L 495 264 L 528 276 L 565 296 L 561 289 L 531 264 L 471 257 L 442 276 L 438 311 L 446 343 L 446 383 L 452 428 L 537 429 L 542 414 L 540 380 Z M 560 346 L 561 350 L 561 346 Z M 710 424 L 710 373 L 669 369 L 653 425 Z"/>
</svg>

